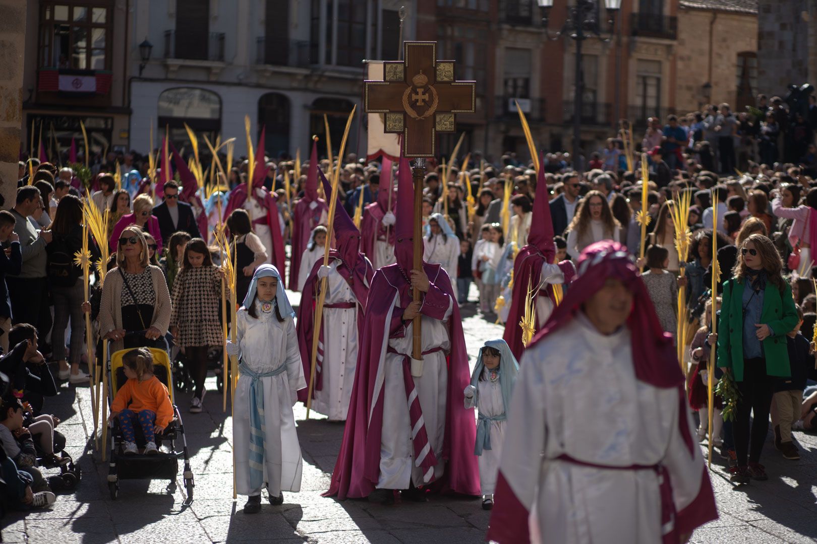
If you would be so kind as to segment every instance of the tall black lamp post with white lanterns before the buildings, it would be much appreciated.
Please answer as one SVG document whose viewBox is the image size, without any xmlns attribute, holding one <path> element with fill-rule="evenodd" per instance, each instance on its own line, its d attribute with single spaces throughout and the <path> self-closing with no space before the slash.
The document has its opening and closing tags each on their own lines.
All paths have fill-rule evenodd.
<svg viewBox="0 0 817 544">
<path fill-rule="evenodd" d="M 607 23 L 610 33 L 613 33 L 615 15 L 621 9 L 622 0 L 604 0 L 607 9 Z M 567 35 L 576 42 L 576 73 L 574 84 L 574 112 L 573 112 L 573 162 L 574 169 L 580 170 L 578 163 L 579 149 L 582 147 L 582 100 L 584 93 L 584 73 L 582 67 L 582 42 L 587 38 L 598 38 L 602 42 L 609 42 L 610 38 L 601 35 L 601 24 L 596 20 L 595 0 L 576 0 L 576 5 L 569 7 L 567 20 L 564 26 L 551 36 L 547 29 L 547 15 L 553 7 L 553 0 L 537 0 L 542 8 L 542 25 L 545 27 L 545 36 L 550 40 L 558 40 L 563 35 Z"/>
</svg>

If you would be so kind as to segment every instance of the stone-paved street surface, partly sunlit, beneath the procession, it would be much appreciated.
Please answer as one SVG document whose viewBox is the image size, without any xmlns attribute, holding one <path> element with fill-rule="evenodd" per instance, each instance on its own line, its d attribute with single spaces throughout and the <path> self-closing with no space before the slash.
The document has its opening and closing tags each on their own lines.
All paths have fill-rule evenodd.
<svg viewBox="0 0 817 544">
<path fill-rule="evenodd" d="M 293 303 L 297 302 L 297 296 L 292 298 Z M 474 316 L 472 309 L 463 314 L 473 364 L 484 339 L 495 338 L 502 331 Z M 106 484 L 106 464 L 98 453 L 92 453 L 89 390 L 64 385 L 56 399 L 47 400 L 47 406 L 63 420 L 59 429 L 68 438 L 69 453 L 78 459 L 83 481 L 75 493 L 59 495 L 48 510 L 29 512 L 25 518 L 11 514 L 3 520 L 6 527 L 2 529 L 2 542 L 483 542 L 489 515 L 480 508 L 479 500 L 431 498 L 423 504 L 376 506 L 365 501 L 322 498 L 320 493 L 328 488 L 343 427 L 321 416 L 307 421 L 301 406 L 296 409 L 304 456 L 301 493 L 286 493 L 283 506 L 270 506 L 265 501 L 261 514 L 244 515 L 246 498 L 232 498 L 230 417 L 221 409 L 214 378 L 208 378 L 208 388 L 202 414 L 186 414 L 190 395 L 179 394 L 196 484 L 194 501 L 185 506 L 181 485 L 168 490 L 167 480 L 125 480 L 118 500 L 112 501 Z M 752 482 L 742 489 L 733 489 L 721 458 L 713 459 L 712 484 L 721 517 L 696 531 L 693 542 L 815 541 L 817 438 L 803 433 L 796 437 L 802 446 L 801 461 L 784 460 L 769 442 L 763 461 L 770 480 Z"/>
</svg>

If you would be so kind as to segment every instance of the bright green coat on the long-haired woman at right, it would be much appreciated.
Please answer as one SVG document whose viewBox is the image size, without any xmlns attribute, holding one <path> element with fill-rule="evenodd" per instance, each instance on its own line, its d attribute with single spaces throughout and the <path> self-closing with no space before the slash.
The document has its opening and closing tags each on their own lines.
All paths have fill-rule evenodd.
<svg viewBox="0 0 817 544">
<path fill-rule="evenodd" d="M 736 382 L 743 381 L 743 289 L 736 279 L 723 285 L 721 320 L 717 328 L 717 364 L 732 369 Z M 797 308 L 792 299 L 792 288 L 785 285 L 783 293 L 771 281 L 763 291 L 761 325 L 769 325 L 775 336 L 763 340 L 766 358 L 766 374 L 788 378 L 792 375 L 788 365 L 786 334 L 797 326 Z"/>
</svg>

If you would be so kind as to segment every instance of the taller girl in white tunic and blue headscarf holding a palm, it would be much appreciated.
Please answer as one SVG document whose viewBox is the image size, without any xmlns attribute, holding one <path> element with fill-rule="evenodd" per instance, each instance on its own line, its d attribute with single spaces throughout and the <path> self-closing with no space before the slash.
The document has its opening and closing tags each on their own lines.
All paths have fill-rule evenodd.
<svg viewBox="0 0 817 544">
<path fill-rule="evenodd" d="M 301 490 L 292 406 L 306 380 L 294 317 L 278 269 L 262 264 L 236 316 L 236 341 L 227 343 L 230 355 L 240 355 L 233 444 L 236 491 L 249 496 L 245 514 L 261 511 L 265 486 L 272 505 L 283 503 L 283 491 Z"/>
</svg>

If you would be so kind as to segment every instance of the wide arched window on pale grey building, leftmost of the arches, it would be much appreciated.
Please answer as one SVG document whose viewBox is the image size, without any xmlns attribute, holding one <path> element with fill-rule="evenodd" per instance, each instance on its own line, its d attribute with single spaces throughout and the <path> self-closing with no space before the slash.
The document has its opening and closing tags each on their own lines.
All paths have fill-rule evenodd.
<svg viewBox="0 0 817 544">
<path fill-rule="evenodd" d="M 173 144 L 187 142 L 185 123 L 199 138 L 207 135 L 211 142 L 221 132 L 221 98 L 212 91 L 195 87 L 167 89 L 158 95 L 157 113 L 159 133 L 163 134 L 167 126 Z"/>
</svg>

